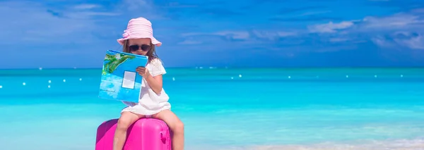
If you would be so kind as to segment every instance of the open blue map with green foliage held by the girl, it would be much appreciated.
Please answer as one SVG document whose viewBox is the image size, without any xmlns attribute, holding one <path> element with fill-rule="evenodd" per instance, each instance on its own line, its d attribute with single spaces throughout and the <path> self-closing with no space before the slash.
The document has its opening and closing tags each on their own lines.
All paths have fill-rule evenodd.
<svg viewBox="0 0 424 150">
<path fill-rule="evenodd" d="M 99 97 L 139 102 L 142 76 L 136 68 L 146 66 L 147 56 L 108 50 L 103 61 Z"/>
</svg>

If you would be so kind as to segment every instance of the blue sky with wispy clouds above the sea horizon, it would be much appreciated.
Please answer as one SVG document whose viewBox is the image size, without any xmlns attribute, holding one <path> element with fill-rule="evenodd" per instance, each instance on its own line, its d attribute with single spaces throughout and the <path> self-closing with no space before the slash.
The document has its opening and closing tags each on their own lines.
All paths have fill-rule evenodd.
<svg viewBox="0 0 424 150">
<path fill-rule="evenodd" d="M 0 14 L 0 68 L 100 68 L 136 17 L 165 67 L 424 66 L 423 0 L 13 0 Z"/>
</svg>

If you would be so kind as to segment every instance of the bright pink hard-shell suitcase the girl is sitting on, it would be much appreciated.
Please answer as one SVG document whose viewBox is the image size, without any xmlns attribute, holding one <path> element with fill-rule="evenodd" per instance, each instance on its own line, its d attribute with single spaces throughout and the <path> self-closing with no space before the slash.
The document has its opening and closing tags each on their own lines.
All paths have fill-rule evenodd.
<svg viewBox="0 0 424 150">
<path fill-rule="evenodd" d="M 112 150 L 117 119 L 99 125 L 95 150 Z M 141 118 L 126 133 L 123 150 L 171 150 L 170 130 L 163 120 Z"/>
</svg>

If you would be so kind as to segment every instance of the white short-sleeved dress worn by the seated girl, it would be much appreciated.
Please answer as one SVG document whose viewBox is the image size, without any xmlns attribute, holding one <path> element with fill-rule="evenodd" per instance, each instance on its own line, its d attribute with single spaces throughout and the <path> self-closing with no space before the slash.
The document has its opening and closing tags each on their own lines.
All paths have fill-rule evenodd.
<svg viewBox="0 0 424 150">
<path fill-rule="evenodd" d="M 153 77 L 156 75 L 166 74 L 165 68 L 158 58 L 155 58 L 148 63 L 146 68 Z M 140 115 L 153 115 L 165 109 L 171 109 L 171 104 L 168 102 L 168 99 L 169 96 L 165 93 L 163 88 L 160 94 L 156 94 L 153 92 L 153 89 L 148 86 L 147 81 L 143 77 L 143 80 L 141 81 L 139 103 L 122 101 L 127 107 L 122 109 L 121 113 L 129 111 Z"/>
</svg>

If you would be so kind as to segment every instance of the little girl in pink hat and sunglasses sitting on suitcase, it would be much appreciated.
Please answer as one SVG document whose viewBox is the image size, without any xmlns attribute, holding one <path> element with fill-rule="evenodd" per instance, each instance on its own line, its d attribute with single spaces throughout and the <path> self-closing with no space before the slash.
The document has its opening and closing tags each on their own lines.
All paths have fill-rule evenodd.
<svg viewBox="0 0 424 150">
<path fill-rule="evenodd" d="M 162 84 L 165 68 L 155 53 L 155 46 L 162 43 L 153 37 L 151 22 L 146 18 L 129 20 L 122 39 L 117 39 L 123 51 L 148 56 L 146 67 L 134 68 L 143 76 L 139 103 L 123 101 L 126 104 L 121 112 L 114 134 L 113 150 L 122 150 L 126 140 L 126 130 L 139 118 L 158 118 L 165 121 L 172 130 L 172 150 L 184 149 L 184 124 L 170 111 L 169 97 Z"/>
</svg>

